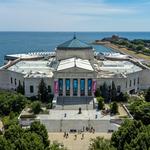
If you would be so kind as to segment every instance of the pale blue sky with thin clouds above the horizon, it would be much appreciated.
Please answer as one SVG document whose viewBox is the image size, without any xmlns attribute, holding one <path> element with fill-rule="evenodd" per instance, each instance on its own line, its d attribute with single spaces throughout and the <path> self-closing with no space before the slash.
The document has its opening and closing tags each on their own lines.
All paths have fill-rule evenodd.
<svg viewBox="0 0 150 150">
<path fill-rule="evenodd" d="M 150 0 L 0 0 L 0 31 L 150 31 Z"/>
</svg>

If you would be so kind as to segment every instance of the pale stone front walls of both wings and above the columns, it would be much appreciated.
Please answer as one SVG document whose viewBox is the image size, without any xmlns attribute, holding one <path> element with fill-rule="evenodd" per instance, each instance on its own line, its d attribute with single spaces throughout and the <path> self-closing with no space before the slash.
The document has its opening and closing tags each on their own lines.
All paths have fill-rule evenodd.
<svg viewBox="0 0 150 150">
<path fill-rule="evenodd" d="M 74 69 L 70 69 L 69 72 L 59 72 L 54 75 L 54 78 L 95 78 L 95 73 L 92 72 L 78 72 L 75 71 L 73 73 Z M 12 78 L 12 83 L 11 83 Z M 139 78 L 139 83 L 138 83 Z M 16 79 L 16 84 L 15 84 Z M 134 79 L 135 79 L 135 85 L 134 85 Z M 53 78 L 45 78 L 45 83 L 51 86 L 51 90 L 53 93 Z M 130 80 L 132 81 L 132 84 L 130 86 Z M 24 75 L 5 70 L 0 69 L 0 89 L 7 89 L 7 90 L 16 90 L 18 87 L 19 81 L 23 85 L 23 82 L 25 84 L 25 95 L 27 97 L 36 96 L 38 94 L 38 85 L 41 81 L 40 78 L 25 78 Z M 100 85 L 103 85 L 104 82 L 107 83 L 107 85 L 111 85 L 112 81 L 114 81 L 116 88 L 117 86 L 121 86 L 122 92 L 129 92 L 130 90 L 138 91 L 140 89 L 147 89 L 150 87 L 150 70 L 145 69 L 140 72 L 135 72 L 132 74 L 128 74 L 127 78 L 99 78 L 97 79 L 97 88 L 100 87 Z M 127 84 L 127 86 L 126 86 Z M 34 86 L 34 92 L 30 93 L 30 85 Z"/>
</svg>

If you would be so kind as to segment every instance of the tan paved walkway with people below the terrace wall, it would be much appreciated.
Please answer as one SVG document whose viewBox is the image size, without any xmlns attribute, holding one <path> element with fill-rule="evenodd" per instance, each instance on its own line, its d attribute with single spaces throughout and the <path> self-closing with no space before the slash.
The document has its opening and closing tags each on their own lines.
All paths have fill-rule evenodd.
<svg viewBox="0 0 150 150">
<path fill-rule="evenodd" d="M 68 150 L 88 150 L 90 139 L 96 138 L 97 136 L 104 137 L 106 139 L 111 138 L 111 133 L 84 133 L 84 139 L 82 134 L 76 134 L 77 138 L 75 139 L 75 134 L 70 133 L 68 138 L 64 138 L 64 133 L 49 133 L 49 140 L 51 142 L 58 141 L 63 143 Z"/>
</svg>

